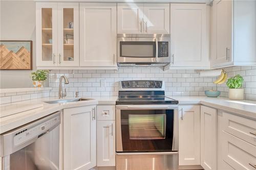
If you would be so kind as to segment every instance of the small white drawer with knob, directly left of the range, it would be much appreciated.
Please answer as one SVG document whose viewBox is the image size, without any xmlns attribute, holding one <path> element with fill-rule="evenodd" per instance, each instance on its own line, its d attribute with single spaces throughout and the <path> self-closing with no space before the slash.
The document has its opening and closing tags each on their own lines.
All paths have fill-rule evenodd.
<svg viewBox="0 0 256 170">
<path fill-rule="evenodd" d="M 97 120 L 115 120 L 116 106 L 97 106 Z"/>
</svg>

